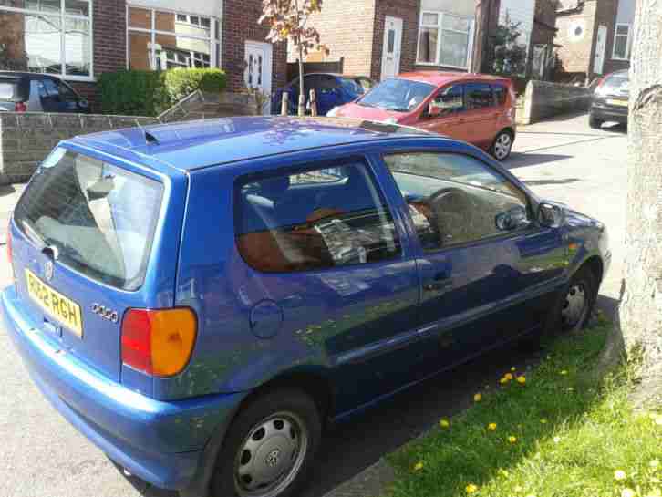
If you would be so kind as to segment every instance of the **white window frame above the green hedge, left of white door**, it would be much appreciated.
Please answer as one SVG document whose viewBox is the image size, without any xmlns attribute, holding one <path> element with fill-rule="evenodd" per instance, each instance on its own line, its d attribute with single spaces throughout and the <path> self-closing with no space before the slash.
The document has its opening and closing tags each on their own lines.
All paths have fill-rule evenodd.
<svg viewBox="0 0 662 497">
<path fill-rule="evenodd" d="M 151 27 L 144 28 L 144 27 L 131 27 L 129 26 L 129 9 L 130 8 L 140 8 L 142 10 L 147 10 L 150 12 L 150 25 Z M 171 31 L 160 31 L 156 29 L 156 13 L 157 12 L 166 12 L 169 14 L 173 14 L 175 16 L 175 24 L 188 24 L 191 26 L 202 26 L 202 22 L 200 22 L 201 17 L 206 17 L 210 20 L 210 26 L 209 26 L 209 36 L 194 36 L 194 35 L 179 35 L 183 38 L 189 38 L 189 39 L 195 39 L 195 40 L 202 40 L 202 41 L 207 41 L 209 42 L 209 48 L 210 48 L 210 55 L 209 55 L 209 67 L 211 68 L 219 68 L 221 67 L 221 58 L 222 58 L 222 24 L 221 24 L 221 18 L 219 17 L 214 17 L 214 16 L 206 16 L 202 14 L 195 14 L 191 12 L 186 12 L 186 11 L 181 11 L 181 10 L 172 10 L 168 8 L 154 8 L 153 6 L 145 6 L 145 5 L 140 5 L 140 4 L 129 4 L 127 3 L 126 6 L 127 9 L 127 68 L 129 68 L 130 63 L 131 63 L 131 55 L 129 52 L 129 35 L 131 32 L 133 33 L 143 33 L 143 34 L 148 34 L 150 35 L 150 45 L 148 48 L 150 48 L 150 64 L 153 64 L 155 67 L 152 70 L 161 70 L 159 67 L 156 67 L 156 36 L 158 35 L 163 35 L 163 36 L 178 36 L 176 33 L 173 33 Z M 186 22 L 180 21 L 178 19 L 178 16 L 186 16 Z M 199 23 L 192 24 L 191 23 L 191 17 L 198 17 Z M 218 26 L 218 31 L 219 33 L 216 33 L 217 29 L 216 26 Z M 202 26 L 205 27 L 205 26 Z M 218 47 L 218 48 L 217 48 Z M 193 56 L 194 52 L 191 52 L 191 60 L 194 59 Z M 218 55 L 218 57 L 217 57 Z M 167 57 L 167 56 L 166 56 Z M 218 60 L 216 60 L 218 58 Z"/>
</svg>

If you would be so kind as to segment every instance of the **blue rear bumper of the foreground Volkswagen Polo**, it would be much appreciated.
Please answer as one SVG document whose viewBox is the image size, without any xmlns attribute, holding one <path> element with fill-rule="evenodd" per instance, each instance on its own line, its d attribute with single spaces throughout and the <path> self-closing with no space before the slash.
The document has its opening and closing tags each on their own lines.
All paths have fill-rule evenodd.
<svg viewBox="0 0 662 497">
<path fill-rule="evenodd" d="M 14 286 L 0 297 L 5 328 L 50 403 L 110 459 L 169 490 L 197 485 L 208 442 L 232 419 L 244 394 L 150 399 L 99 375 L 22 315 Z"/>
</svg>

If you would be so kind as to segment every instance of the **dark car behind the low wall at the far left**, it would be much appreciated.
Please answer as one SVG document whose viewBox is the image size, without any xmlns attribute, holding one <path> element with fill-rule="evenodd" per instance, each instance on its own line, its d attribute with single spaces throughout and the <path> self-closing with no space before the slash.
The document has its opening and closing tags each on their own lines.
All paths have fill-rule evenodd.
<svg viewBox="0 0 662 497">
<path fill-rule="evenodd" d="M 89 104 L 55 76 L 0 71 L 0 111 L 87 114 Z"/>
</svg>

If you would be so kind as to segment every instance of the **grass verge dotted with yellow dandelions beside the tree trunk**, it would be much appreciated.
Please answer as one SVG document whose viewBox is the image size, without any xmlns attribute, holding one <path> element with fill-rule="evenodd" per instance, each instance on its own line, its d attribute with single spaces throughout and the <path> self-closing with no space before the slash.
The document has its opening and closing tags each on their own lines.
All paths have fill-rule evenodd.
<svg viewBox="0 0 662 497">
<path fill-rule="evenodd" d="M 503 371 L 496 393 L 389 455 L 389 496 L 662 497 L 662 414 L 632 409 L 627 366 L 585 381 L 608 326 L 553 341 L 533 372 Z"/>
</svg>

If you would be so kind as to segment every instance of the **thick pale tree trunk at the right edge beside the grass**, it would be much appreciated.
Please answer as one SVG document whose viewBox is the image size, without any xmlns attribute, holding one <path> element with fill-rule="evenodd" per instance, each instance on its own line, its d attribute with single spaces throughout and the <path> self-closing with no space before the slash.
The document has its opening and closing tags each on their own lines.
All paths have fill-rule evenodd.
<svg viewBox="0 0 662 497">
<path fill-rule="evenodd" d="M 635 27 L 620 318 L 627 350 L 643 352 L 636 402 L 662 405 L 662 2 L 637 0 Z"/>
</svg>

